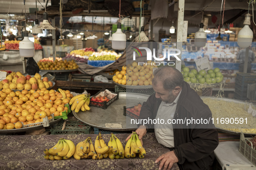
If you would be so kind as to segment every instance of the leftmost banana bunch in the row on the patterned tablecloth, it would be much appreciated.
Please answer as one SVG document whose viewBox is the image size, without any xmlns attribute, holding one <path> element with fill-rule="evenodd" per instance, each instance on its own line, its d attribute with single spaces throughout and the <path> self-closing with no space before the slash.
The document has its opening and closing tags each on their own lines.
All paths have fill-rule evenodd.
<svg viewBox="0 0 256 170">
<path fill-rule="evenodd" d="M 69 159 L 75 153 L 75 144 L 71 140 L 60 139 L 56 145 L 44 150 L 45 159 L 62 160 Z"/>
</svg>

